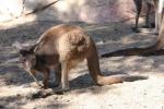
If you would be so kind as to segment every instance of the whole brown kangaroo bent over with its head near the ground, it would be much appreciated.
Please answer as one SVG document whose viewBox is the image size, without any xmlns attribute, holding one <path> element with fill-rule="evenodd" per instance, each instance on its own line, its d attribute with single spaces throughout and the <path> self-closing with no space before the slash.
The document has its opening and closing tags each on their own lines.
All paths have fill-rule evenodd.
<svg viewBox="0 0 164 109">
<path fill-rule="evenodd" d="M 58 87 L 61 90 L 70 88 L 69 71 L 84 59 L 86 59 L 90 74 L 97 85 L 148 78 L 140 75 L 103 75 L 93 39 L 83 28 L 74 25 L 60 24 L 47 29 L 34 46 L 30 49 L 20 50 L 20 53 L 23 59 L 26 59 L 23 63 L 25 63 L 25 68 L 28 69 L 31 74 L 34 74 L 33 71 L 46 73 L 45 85 L 47 85 L 49 75 L 48 69 L 57 70 L 59 75 L 61 74 L 61 77 L 58 76 L 60 77 Z M 33 58 L 27 58 L 30 56 Z"/>
</svg>

